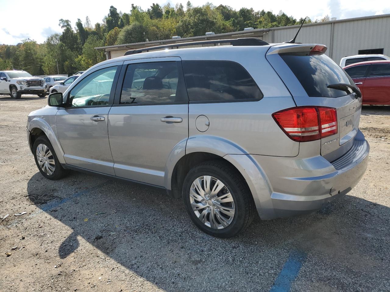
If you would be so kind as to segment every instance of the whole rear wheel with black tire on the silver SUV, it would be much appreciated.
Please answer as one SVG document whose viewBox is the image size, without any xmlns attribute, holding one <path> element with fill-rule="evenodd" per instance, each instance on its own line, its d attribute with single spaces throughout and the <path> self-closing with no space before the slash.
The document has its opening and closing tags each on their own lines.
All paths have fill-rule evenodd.
<svg viewBox="0 0 390 292">
<path fill-rule="evenodd" d="M 195 166 L 183 183 L 183 200 L 192 222 L 215 237 L 232 237 L 255 214 L 252 194 L 241 174 L 223 161 Z"/>
</svg>

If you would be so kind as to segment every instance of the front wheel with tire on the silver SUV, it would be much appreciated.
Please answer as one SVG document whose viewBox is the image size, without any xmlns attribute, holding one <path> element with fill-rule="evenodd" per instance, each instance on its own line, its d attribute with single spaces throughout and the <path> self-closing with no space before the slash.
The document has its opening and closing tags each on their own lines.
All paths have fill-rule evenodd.
<svg viewBox="0 0 390 292">
<path fill-rule="evenodd" d="M 66 170 L 58 161 L 53 146 L 46 136 L 38 137 L 33 146 L 35 164 L 41 174 L 48 179 L 57 180 L 66 175 Z"/>
</svg>

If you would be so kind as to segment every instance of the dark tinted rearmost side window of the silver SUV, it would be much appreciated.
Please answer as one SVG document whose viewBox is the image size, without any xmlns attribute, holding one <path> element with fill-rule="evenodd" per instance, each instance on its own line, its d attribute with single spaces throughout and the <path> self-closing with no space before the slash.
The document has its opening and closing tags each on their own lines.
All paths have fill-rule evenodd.
<svg viewBox="0 0 390 292">
<path fill-rule="evenodd" d="M 260 100 L 263 95 L 249 73 L 231 61 L 183 61 L 190 101 Z"/>
</svg>

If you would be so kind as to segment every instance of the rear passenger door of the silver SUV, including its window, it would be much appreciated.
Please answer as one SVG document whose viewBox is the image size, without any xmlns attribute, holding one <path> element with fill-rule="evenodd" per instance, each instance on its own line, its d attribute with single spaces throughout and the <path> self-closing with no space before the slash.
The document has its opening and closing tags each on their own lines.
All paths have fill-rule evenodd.
<svg viewBox="0 0 390 292">
<path fill-rule="evenodd" d="M 115 175 L 163 186 L 169 154 L 188 139 L 181 59 L 124 62 L 108 121 Z"/>
</svg>

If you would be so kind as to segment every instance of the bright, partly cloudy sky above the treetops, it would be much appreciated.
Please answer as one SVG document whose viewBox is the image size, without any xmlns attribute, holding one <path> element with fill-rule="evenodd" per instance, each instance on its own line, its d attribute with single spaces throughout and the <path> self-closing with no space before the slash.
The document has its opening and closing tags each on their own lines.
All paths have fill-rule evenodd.
<svg viewBox="0 0 390 292">
<path fill-rule="evenodd" d="M 62 31 L 58 26 L 60 18 L 69 19 L 74 27 L 78 18 L 84 23 L 85 17 L 88 16 L 90 23 L 94 25 L 97 22 L 102 22 L 103 17 L 108 14 L 110 5 L 116 7 L 118 11 L 130 12 L 131 2 L 141 6 L 144 10 L 149 8 L 152 3 L 163 6 L 169 2 L 173 7 L 177 3 L 174 0 L 143 0 L 140 3 L 95 0 L 93 4 L 87 1 L 36 2 L 22 0 L 18 2 L 15 10 L 15 4 L 12 1 L 0 0 L 0 44 L 17 44 L 26 38 L 43 43 L 49 35 Z M 207 0 L 191 0 L 193 6 L 204 5 L 206 2 Z M 252 7 L 255 11 L 264 9 L 265 11 L 273 11 L 275 14 L 282 10 L 288 16 L 293 16 L 296 19 L 308 16 L 312 20 L 321 19 L 326 15 L 331 18 L 345 19 L 390 13 L 389 0 L 371 0 L 369 2 L 367 0 L 328 0 L 327 2 L 209 0 L 209 2 L 215 6 L 229 5 L 236 10 L 241 7 Z M 186 7 L 186 0 L 179 3 Z"/>
</svg>

